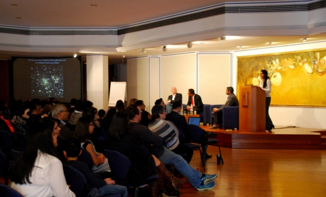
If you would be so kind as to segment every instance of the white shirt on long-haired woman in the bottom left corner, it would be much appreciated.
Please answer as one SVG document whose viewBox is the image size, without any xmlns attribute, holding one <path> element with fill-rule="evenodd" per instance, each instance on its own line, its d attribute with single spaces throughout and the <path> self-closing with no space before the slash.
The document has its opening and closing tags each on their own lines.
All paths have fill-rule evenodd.
<svg viewBox="0 0 326 197">
<path fill-rule="evenodd" d="M 16 184 L 11 187 L 25 197 L 75 197 L 66 182 L 60 160 L 50 154 L 38 150 L 32 175 L 31 184 Z"/>
</svg>

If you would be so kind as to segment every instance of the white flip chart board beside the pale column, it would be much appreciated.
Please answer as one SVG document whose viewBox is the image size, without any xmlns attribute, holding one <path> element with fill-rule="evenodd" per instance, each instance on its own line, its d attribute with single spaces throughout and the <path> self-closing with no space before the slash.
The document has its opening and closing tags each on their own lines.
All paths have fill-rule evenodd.
<svg viewBox="0 0 326 197">
<path fill-rule="evenodd" d="M 111 82 L 109 107 L 115 106 L 118 100 L 127 100 L 127 82 Z"/>
</svg>

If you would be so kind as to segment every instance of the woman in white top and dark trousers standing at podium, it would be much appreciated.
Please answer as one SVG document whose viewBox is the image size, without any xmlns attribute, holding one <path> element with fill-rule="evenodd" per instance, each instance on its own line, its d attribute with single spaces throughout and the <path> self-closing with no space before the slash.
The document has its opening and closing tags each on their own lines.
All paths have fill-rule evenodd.
<svg viewBox="0 0 326 197">
<path fill-rule="evenodd" d="M 271 129 L 275 129 L 275 128 L 268 114 L 268 109 L 271 100 L 270 98 L 271 83 L 269 80 L 269 76 L 267 75 L 267 70 L 260 70 L 260 78 L 261 81 L 259 87 L 266 92 L 266 130 L 270 131 Z"/>
</svg>

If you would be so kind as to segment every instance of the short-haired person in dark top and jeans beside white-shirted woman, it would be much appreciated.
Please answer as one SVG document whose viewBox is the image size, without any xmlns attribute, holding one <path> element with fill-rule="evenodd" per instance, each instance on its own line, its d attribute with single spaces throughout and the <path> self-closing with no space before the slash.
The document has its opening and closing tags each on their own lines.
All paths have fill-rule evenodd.
<svg viewBox="0 0 326 197">
<path fill-rule="evenodd" d="M 126 186 L 115 185 L 115 181 L 111 178 L 102 180 L 101 175 L 91 172 L 86 164 L 77 161 L 78 156 L 81 154 L 79 140 L 76 138 L 70 138 L 65 142 L 63 149 L 63 153 L 67 159 L 65 164 L 72 166 L 85 176 L 89 188 L 87 196 L 100 197 L 108 194 L 119 193 L 123 197 L 128 197 Z"/>
</svg>

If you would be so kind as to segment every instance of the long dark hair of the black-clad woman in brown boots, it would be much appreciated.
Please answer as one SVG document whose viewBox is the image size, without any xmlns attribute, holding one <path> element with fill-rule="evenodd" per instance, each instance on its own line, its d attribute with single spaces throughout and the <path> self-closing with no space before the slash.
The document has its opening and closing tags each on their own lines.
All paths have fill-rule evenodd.
<svg viewBox="0 0 326 197">
<path fill-rule="evenodd" d="M 121 136 L 128 132 L 129 115 L 126 111 L 116 112 L 112 119 L 112 124 L 108 131 L 107 137 L 120 140 Z"/>
</svg>

